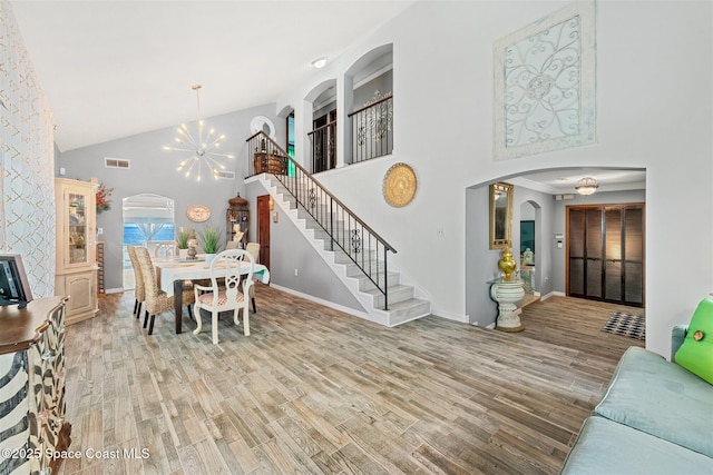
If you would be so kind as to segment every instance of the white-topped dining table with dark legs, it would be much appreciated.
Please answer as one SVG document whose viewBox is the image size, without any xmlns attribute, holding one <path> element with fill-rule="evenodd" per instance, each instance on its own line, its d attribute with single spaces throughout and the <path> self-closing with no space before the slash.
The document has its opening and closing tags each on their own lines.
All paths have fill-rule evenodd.
<svg viewBox="0 0 713 475">
<path fill-rule="evenodd" d="M 253 279 L 260 280 L 263 284 L 270 283 L 270 270 L 262 264 L 254 264 Z M 211 265 L 205 261 L 199 255 L 196 259 L 173 259 L 173 258 L 155 258 L 154 267 L 156 268 L 156 278 L 158 279 L 158 287 L 166 293 L 166 295 L 177 296 L 174 298 L 174 311 L 176 315 L 176 334 L 183 331 L 183 303 L 180 295 L 183 294 L 184 283 L 186 280 L 201 280 L 211 278 Z M 217 276 L 221 276 L 221 270 L 225 268 L 215 268 Z M 250 264 L 241 263 L 241 274 L 247 275 L 250 273 Z M 196 318 L 199 318 L 197 316 Z"/>
</svg>

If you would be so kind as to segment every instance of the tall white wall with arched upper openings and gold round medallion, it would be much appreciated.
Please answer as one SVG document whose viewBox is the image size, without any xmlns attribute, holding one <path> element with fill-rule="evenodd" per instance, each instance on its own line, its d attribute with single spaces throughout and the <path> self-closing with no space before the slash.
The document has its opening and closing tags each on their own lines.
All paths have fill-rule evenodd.
<svg viewBox="0 0 713 475">
<path fill-rule="evenodd" d="M 645 168 L 647 347 L 667 355 L 671 326 L 687 321 L 713 290 L 712 4 L 599 2 L 597 144 L 495 161 L 492 43 L 565 4 L 417 2 L 285 92 L 277 110 L 293 106 L 300 116 L 314 86 L 393 43 L 393 156 L 322 174 L 323 181 L 399 250 L 400 266 L 431 293 L 434 313 L 461 320 L 466 256 L 470 246 L 482 246 L 466 240 L 467 188 L 538 169 Z M 304 140 L 304 131 L 297 133 Z M 416 199 L 400 209 L 381 194 L 384 172 L 397 161 L 411 165 L 419 179 Z M 682 240 L 682 229 L 693 244 Z M 692 266 L 691 255 L 702 265 Z"/>
</svg>

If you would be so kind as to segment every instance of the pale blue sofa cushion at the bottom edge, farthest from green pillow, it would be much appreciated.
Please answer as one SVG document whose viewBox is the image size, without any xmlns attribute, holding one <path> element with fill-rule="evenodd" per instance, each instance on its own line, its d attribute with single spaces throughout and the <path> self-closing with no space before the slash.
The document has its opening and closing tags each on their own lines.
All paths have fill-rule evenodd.
<svg viewBox="0 0 713 475">
<path fill-rule="evenodd" d="M 561 474 L 707 474 L 713 458 L 603 417 L 584 422 Z"/>
</svg>

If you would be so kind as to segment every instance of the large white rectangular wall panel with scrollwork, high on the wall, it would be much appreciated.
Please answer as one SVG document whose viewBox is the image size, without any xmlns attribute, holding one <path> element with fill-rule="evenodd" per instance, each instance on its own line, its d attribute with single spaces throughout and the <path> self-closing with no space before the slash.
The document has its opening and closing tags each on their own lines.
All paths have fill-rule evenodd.
<svg viewBox="0 0 713 475">
<path fill-rule="evenodd" d="M 568 6 L 495 43 L 495 158 L 596 140 L 596 6 Z"/>
</svg>

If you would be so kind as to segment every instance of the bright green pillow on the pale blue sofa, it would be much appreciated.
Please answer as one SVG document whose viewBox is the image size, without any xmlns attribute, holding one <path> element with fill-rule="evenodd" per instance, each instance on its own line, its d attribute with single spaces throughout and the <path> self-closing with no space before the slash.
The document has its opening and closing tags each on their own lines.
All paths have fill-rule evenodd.
<svg viewBox="0 0 713 475">
<path fill-rule="evenodd" d="M 675 362 L 713 384 L 713 300 L 704 298 L 696 307 Z"/>
</svg>

